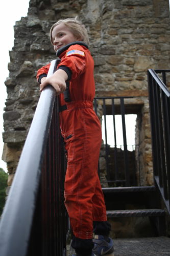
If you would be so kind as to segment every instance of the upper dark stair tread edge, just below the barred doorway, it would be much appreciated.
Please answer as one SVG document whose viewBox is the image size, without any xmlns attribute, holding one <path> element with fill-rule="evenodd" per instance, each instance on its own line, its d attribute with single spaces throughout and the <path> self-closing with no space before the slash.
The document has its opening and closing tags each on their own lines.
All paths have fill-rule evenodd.
<svg viewBox="0 0 170 256">
<path fill-rule="evenodd" d="M 103 187 L 104 193 L 119 193 L 119 192 L 144 192 L 155 191 L 155 186 L 134 186 L 134 187 Z"/>
</svg>

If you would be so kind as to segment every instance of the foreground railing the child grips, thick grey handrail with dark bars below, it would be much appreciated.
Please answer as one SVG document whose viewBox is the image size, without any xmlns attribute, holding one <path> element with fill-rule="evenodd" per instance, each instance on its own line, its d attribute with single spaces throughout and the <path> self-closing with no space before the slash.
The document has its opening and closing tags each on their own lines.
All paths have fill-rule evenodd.
<svg viewBox="0 0 170 256">
<path fill-rule="evenodd" d="M 54 70 L 56 60 L 47 76 Z M 66 255 L 58 113 L 56 92 L 48 86 L 40 95 L 1 218 L 2 256 Z"/>
</svg>

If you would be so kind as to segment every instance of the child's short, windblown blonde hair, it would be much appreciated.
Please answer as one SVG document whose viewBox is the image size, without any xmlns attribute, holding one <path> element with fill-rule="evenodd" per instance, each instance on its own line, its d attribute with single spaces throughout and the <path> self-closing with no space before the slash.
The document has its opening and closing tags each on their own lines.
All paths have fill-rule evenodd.
<svg viewBox="0 0 170 256">
<path fill-rule="evenodd" d="M 86 45 L 89 45 L 89 38 L 88 33 L 85 28 L 85 26 L 76 18 L 66 18 L 66 19 L 60 19 L 58 22 L 53 24 L 53 26 L 50 29 L 50 40 L 52 45 L 54 45 L 53 38 L 52 38 L 52 31 L 53 29 L 63 23 L 65 26 L 69 28 L 71 33 L 76 36 L 77 38 L 82 38 L 81 41 L 85 42 Z"/>
</svg>

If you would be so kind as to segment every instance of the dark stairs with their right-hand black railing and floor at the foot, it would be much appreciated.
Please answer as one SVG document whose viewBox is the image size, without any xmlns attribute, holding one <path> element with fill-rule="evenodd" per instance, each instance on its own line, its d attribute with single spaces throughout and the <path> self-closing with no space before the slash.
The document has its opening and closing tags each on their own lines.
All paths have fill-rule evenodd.
<svg viewBox="0 0 170 256">
<path fill-rule="evenodd" d="M 170 92 L 166 72 L 169 70 L 148 71 L 155 185 L 103 188 L 115 256 L 170 255 Z M 141 220 L 136 221 L 139 218 L 147 218 L 143 227 L 139 225 Z"/>
</svg>

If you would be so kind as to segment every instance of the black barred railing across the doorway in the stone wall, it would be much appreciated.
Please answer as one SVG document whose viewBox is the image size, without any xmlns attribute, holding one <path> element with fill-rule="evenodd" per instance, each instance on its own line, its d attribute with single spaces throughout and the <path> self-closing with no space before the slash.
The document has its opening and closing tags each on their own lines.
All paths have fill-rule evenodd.
<svg viewBox="0 0 170 256">
<path fill-rule="evenodd" d="M 101 155 L 105 158 L 106 176 L 101 179 L 102 185 L 107 187 L 115 186 L 136 186 L 137 185 L 137 169 L 135 164 L 135 152 L 138 154 L 138 145 L 127 145 L 126 134 L 126 104 L 125 100 L 133 97 L 96 97 L 94 99 L 94 110 L 101 123 L 104 126 L 103 139 L 105 154 Z M 121 123 L 116 129 L 116 115 L 121 116 Z M 109 127 L 106 117 L 112 119 L 112 127 Z M 135 128 L 135 127 L 134 127 Z M 132 133 L 134 133 L 132 129 Z M 113 145 L 109 144 L 108 136 L 112 137 Z M 117 141 L 122 137 L 123 145 L 118 145 Z M 119 143 L 119 142 L 118 142 Z M 103 152 L 103 151 L 102 151 Z M 101 166 L 99 164 L 99 175 L 101 176 Z M 105 174 L 103 174 L 104 176 Z M 104 184 L 105 183 L 105 184 Z"/>
</svg>

